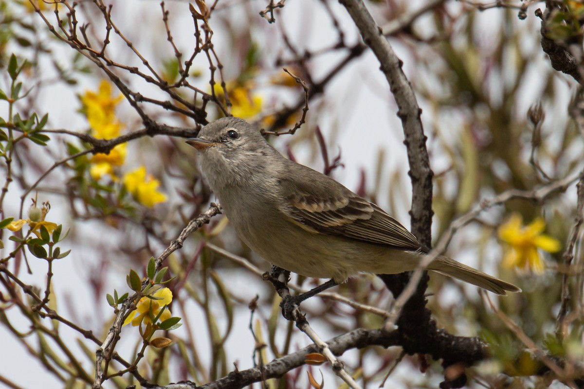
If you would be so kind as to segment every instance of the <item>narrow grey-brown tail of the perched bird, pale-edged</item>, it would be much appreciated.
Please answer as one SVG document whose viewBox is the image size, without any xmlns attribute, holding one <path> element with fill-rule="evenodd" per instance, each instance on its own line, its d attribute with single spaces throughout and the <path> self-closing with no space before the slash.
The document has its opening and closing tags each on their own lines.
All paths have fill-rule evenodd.
<svg viewBox="0 0 584 389">
<path fill-rule="evenodd" d="M 521 289 L 512 283 L 501 281 L 498 278 L 479 272 L 470 266 L 450 258 L 440 256 L 428 266 L 428 270 L 435 271 L 450 277 L 458 278 L 461 281 L 472 283 L 480 288 L 490 290 L 498 295 L 505 296 L 509 292 L 521 292 Z"/>
</svg>

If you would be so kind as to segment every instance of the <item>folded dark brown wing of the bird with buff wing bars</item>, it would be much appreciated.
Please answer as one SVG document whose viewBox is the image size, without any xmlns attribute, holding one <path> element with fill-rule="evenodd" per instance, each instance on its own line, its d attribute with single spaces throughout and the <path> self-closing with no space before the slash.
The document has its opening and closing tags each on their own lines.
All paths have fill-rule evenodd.
<svg viewBox="0 0 584 389">
<path fill-rule="evenodd" d="M 281 211 L 292 222 L 311 232 L 402 250 L 420 249 L 416 237 L 383 209 L 332 178 L 309 167 L 298 166 L 302 166 L 303 174 L 287 175 L 280 180 L 280 195 L 285 199 Z"/>
</svg>

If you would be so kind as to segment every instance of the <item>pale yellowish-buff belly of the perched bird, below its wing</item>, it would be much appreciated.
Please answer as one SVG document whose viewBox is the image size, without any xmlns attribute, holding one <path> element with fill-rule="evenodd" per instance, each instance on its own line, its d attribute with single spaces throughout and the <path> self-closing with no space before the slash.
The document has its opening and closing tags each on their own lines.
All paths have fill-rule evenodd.
<svg viewBox="0 0 584 389">
<path fill-rule="evenodd" d="M 419 254 L 308 232 L 279 211 L 270 212 L 265 202 L 263 204 L 258 212 L 252 211 L 257 201 L 237 204 L 236 209 L 226 204 L 225 214 L 239 238 L 277 267 L 308 277 L 333 278 L 340 283 L 359 272 L 396 274 L 410 271 L 419 262 Z"/>
</svg>

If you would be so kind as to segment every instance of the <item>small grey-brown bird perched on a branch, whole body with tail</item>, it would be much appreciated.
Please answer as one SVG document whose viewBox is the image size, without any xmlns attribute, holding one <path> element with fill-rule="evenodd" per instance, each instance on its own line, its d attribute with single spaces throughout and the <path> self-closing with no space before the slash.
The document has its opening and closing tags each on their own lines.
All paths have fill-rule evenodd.
<svg viewBox="0 0 584 389">
<path fill-rule="evenodd" d="M 377 205 L 284 158 L 244 120 L 225 117 L 186 140 L 239 238 L 280 268 L 335 283 L 415 269 L 428 250 Z M 517 286 L 447 257 L 429 270 L 505 295 Z"/>
</svg>

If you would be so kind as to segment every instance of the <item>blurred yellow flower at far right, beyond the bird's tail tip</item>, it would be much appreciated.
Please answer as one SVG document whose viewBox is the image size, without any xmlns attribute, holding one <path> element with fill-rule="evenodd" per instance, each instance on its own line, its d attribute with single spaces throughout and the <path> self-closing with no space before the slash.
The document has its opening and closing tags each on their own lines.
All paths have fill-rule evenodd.
<svg viewBox="0 0 584 389">
<path fill-rule="evenodd" d="M 536 218 L 528 226 L 523 226 L 519 213 L 513 213 L 505 224 L 499 227 L 499 239 L 507 243 L 503 266 L 507 268 L 531 268 L 536 273 L 544 271 L 544 262 L 538 248 L 556 253 L 561 245 L 554 237 L 543 234 L 545 220 Z"/>
</svg>

